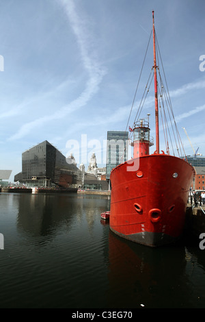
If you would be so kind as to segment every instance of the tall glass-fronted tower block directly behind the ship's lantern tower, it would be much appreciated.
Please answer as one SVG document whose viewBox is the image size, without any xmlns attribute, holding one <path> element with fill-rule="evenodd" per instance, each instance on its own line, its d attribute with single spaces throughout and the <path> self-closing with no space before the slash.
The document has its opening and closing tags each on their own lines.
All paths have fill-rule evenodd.
<svg viewBox="0 0 205 322">
<path fill-rule="evenodd" d="M 115 166 L 128 159 L 128 132 L 107 132 L 106 179 Z"/>
</svg>

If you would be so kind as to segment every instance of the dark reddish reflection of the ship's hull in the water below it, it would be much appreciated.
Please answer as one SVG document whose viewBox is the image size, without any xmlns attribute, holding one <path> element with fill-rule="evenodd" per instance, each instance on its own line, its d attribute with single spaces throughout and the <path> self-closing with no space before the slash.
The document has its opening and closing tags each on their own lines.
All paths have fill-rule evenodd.
<svg viewBox="0 0 205 322">
<path fill-rule="evenodd" d="M 109 232 L 108 305 L 112 308 L 197 308 L 204 297 L 193 297 L 187 275 L 185 247 L 152 249 Z"/>
</svg>

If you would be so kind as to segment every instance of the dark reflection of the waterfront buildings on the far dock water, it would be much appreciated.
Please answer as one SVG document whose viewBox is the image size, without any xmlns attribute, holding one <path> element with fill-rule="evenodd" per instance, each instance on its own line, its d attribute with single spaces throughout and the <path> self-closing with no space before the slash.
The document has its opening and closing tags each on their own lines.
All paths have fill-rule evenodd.
<svg viewBox="0 0 205 322">
<path fill-rule="evenodd" d="M 18 195 L 18 230 L 24 230 L 32 236 L 54 236 L 54 231 L 64 225 L 69 231 L 73 224 L 81 223 L 84 214 L 92 230 L 95 216 L 105 210 L 105 199 L 102 197 L 100 200 L 101 205 L 99 200 L 96 203 L 94 197 L 76 194 Z"/>
</svg>

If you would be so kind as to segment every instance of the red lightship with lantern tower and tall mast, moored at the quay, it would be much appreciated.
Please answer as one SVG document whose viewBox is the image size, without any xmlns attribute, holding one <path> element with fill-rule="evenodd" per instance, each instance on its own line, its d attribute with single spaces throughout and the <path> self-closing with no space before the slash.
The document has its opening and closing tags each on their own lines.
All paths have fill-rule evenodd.
<svg viewBox="0 0 205 322">
<path fill-rule="evenodd" d="M 111 231 L 123 238 L 158 247 L 174 242 L 182 234 L 195 171 L 186 157 L 169 155 L 167 140 L 167 153 L 159 149 L 159 101 L 163 97 L 164 86 L 159 93 L 154 12 L 152 19 L 156 151 L 152 154 L 149 151 L 153 145 L 149 121 L 139 119 L 130 128 L 133 134 L 133 159 L 111 171 L 109 223 Z M 178 132 L 176 136 L 179 136 Z"/>
</svg>

